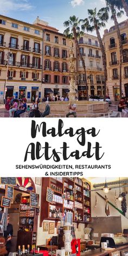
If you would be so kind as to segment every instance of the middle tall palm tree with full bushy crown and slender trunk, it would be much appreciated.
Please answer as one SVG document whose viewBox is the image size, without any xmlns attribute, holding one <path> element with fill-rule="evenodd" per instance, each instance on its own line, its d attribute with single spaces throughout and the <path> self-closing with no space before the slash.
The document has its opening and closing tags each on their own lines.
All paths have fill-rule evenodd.
<svg viewBox="0 0 128 256">
<path fill-rule="evenodd" d="M 103 40 L 101 39 L 100 35 L 100 28 L 105 27 L 105 22 L 108 20 L 108 8 L 101 8 L 98 12 L 97 9 L 95 8 L 94 10 L 89 9 L 88 10 L 88 18 L 85 18 L 85 20 L 81 20 L 83 25 L 82 30 L 85 31 L 96 31 L 98 41 L 100 44 L 101 52 L 102 52 L 102 57 L 103 57 L 103 66 L 104 66 L 104 76 L 105 76 L 105 84 L 104 84 L 104 101 L 106 99 L 106 81 L 107 81 L 107 68 L 106 68 L 106 53 L 105 53 L 105 47 L 103 44 Z"/>
</svg>

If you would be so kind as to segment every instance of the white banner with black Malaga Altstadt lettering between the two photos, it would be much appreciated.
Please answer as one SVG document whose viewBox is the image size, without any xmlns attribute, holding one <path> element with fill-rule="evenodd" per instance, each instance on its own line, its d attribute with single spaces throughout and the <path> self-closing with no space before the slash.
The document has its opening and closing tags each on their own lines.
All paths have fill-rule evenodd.
<svg viewBox="0 0 128 256">
<path fill-rule="evenodd" d="M 39 126 L 43 122 L 35 138 L 31 137 L 32 120 Z M 59 123 L 59 118 L 1 118 L 0 176 L 126 177 L 127 120 L 126 118 L 63 118 Z M 52 137 L 54 132 L 58 133 L 59 124 L 60 136 Z M 51 135 L 48 134 L 48 130 L 52 127 Z M 70 135 L 79 134 L 73 137 L 69 134 L 61 136 L 61 133 L 65 133 L 69 127 L 71 127 Z M 78 140 L 80 143 L 82 140 L 84 145 Z M 32 146 L 29 146 L 31 143 Z M 33 160 L 31 150 L 35 158 Z"/>
</svg>

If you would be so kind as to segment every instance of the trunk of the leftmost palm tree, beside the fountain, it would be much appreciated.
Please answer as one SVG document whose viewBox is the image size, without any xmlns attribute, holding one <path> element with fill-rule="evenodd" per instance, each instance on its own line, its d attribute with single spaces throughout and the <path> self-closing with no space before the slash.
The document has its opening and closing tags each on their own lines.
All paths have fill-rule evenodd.
<svg viewBox="0 0 128 256">
<path fill-rule="evenodd" d="M 79 47 L 79 43 L 78 43 L 78 39 L 77 39 L 77 35 L 76 35 L 76 30 L 75 30 L 75 28 L 73 28 L 73 34 L 74 34 L 74 39 L 75 39 L 76 53 L 78 53 L 78 55 L 79 55 L 79 57 L 80 57 L 80 60 L 82 61 L 82 66 L 83 66 L 83 68 L 84 68 L 85 84 L 86 84 L 86 92 L 87 92 L 87 100 L 89 100 L 89 98 L 88 98 L 88 86 L 87 86 L 86 66 L 85 66 L 84 58 L 83 58 L 82 54 L 80 53 L 80 47 Z"/>
</svg>

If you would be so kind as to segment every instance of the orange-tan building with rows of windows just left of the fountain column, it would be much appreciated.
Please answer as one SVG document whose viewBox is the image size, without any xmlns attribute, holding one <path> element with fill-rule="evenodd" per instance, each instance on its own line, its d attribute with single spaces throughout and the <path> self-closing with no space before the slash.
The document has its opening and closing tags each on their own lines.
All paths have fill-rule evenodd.
<svg viewBox="0 0 128 256">
<path fill-rule="evenodd" d="M 35 25 L 43 29 L 43 74 L 42 93 L 44 97 L 50 94 L 67 95 L 69 92 L 69 78 L 65 72 L 69 71 L 69 39 L 50 27 L 37 17 Z M 74 46 L 75 47 L 75 46 Z"/>
</svg>

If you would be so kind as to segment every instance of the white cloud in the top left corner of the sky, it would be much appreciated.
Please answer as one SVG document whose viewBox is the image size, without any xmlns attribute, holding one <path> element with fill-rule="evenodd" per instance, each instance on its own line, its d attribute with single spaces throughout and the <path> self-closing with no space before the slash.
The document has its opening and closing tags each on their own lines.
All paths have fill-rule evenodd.
<svg viewBox="0 0 128 256">
<path fill-rule="evenodd" d="M 0 0 L 0 10 L 1 14 L 6 14 L 9 11 L 22 10 L 27 11 L 32 8 L 28 0 Z"/>
</svg>

